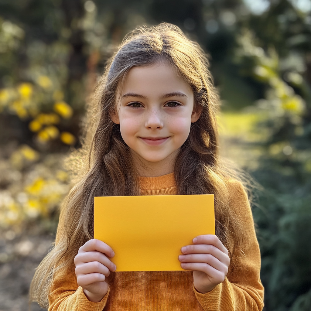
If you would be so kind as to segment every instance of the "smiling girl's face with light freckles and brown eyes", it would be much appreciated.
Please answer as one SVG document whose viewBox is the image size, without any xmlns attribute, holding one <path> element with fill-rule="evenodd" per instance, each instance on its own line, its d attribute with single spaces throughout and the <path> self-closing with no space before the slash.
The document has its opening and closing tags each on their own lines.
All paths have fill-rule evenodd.
<svg viewBox="0 0 311 311">
<path fill-rule="evenodd" d="M 193 111 L 191 87 L 163 62 L 133 67 L 119 91 L 117 115 L 124 142 L 142 163 L 174 160 L 186 141 Z M 135 157 L 134 157 L 135 158 Z"/>
</svg>

